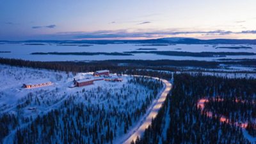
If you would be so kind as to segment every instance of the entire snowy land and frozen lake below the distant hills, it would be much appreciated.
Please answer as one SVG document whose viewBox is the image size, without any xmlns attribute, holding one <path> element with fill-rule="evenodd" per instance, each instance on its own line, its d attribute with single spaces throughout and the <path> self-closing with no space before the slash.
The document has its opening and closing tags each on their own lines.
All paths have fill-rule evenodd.
<svg viewBox="0 0 256 144">
<path fill-rule="evenodd" d="M 79 45 L 3 44 L 1 143 L 256 142 L 255 55 L 223 59 L 200 53 L 254 54 L 254 45 Z M 162 53 L 170 49 L 171 55 Z M 194 53 L 195 57 L 186 56 Z M 107 57 L 109 61 L 94 61 Z M 113 73 L 97 74 L 109 71 Z M 223 100 L 214 101 L 216 97 Z"/>
</svg>

